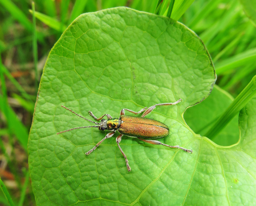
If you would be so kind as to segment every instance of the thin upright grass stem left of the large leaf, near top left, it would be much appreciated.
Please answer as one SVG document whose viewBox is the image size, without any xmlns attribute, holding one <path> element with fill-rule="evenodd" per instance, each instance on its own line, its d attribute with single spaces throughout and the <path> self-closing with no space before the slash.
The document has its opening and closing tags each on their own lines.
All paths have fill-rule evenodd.
<svg viewBox="0 0 256 206">
<path fill-rule="evenodd" d="M 33 57 L 34 57 L 34 65 L 35 65 L 35 88 L 36 93 L 38 90 L 38 72 L 37 72 L 37 62 L 38 62 L 38 53 L 37 53 L 37 32 L 36 32 L 36 17 L 35 17 L 35 3 L 32 2 L 32 10 L 33 10 Z"/>
</svg>

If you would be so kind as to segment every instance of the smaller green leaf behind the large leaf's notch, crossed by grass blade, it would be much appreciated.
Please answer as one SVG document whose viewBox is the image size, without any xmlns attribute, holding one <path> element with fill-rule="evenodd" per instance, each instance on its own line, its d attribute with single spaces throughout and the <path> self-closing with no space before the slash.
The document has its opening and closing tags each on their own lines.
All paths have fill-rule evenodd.
<svg viewBox="0 0 256 206">
<path fill-rule="evenodd" d="M 214 85 L 211 95 L 206 100 L 186 110 L 184 119 L 196 134 L 204 136 L 233 100 L 231 95 Z M 222 146 L 235 144 L 239 137 L 237 123 L 238 113 L 212 141 Z"/>
</svg>

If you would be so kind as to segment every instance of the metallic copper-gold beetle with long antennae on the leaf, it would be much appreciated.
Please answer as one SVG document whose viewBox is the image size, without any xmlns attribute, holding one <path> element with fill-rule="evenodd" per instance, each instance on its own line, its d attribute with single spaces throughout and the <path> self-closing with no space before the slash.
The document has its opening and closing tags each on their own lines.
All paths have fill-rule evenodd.
<svg viewBox="0 0 256 206">
<path fill-rule="evenodd" d="M 91 152 L 93 152 L 104 140 L 106 140 L 107 138 L 112 137 L 115 132 L 118 130 L 118 132 L 120 133 L 120 135 L 118 135 L 116 141 L 117 141 L 117 145 L 118 148 L 120 149 L 121 153 L 124 156 L 125 162 L 126 162 L 126 167 L 128 172 L 131 171 L 131 168 L 129 166 L 128 160 L 127 160 L 127 156 L 125 155 L 125 153 L 123 152 L 123 150 L 120 147 L 120 141 L 121 141 L 121 137 L 123 135 L 126 136 L 131 136 L 131 137 L 137 137 L 138 139 L 150 143 L 150 144 L 161 144 L 167 147 L 171 147 L 171 148 L 179 148 L 184 150 L 185 152 L 189 152 L 192 153 L 192 150 L 190 149 L 185 149 L 183 147 L 180 147 L 178 145 L 176 146 L 171 146 L 168 144 L 164 144 L 161 143 L 159 141 L 156 140 L 145 140 L 145 138 L 160 138 L 160 137 L 165 137 L 169 134 L 169 128 L 166 124 L 159 122 L 157 120 L 154 119 L 149 119 L 149 118 L 145 118 L 145 116 L 147 114 L 149 114 L 152 110 L 154 110 L 154 108 L 156 106 L 163 106 L 163 105 L 175 105 L 178 104 L 179 102 L 181 102 L 182 99 L 177 100 L 176 102 L 170 102 L 170 103 L 162 103 L 162 104 L 155 104 L 149 108 L 145 107 L 142 110 L 135 112 L 129 109 L 122 109 L 120 112 L 120 117 L 119 118 L 112 118 L 110 116 L 110 114 L 103 114 L 101 117 L 97 118 L 94 116 L 94 114 L 89 111 L 88 113 L 97 121 L 101 120 L 100 123 L 98 122 L 93 122 L 89 119 L 86 119 L 84 117 L 82 117 L 81 115 L 75 113 L 74 111 L 72 111 L 71 109 L 61 105 L 63 108 L 71 111 L 72 113 L 74 113 L 75 115 L 88 120 L 89 122 L 92 122 L 96 125 L 91 125 L 91 126 L 82 126 L 82 127 L 77 127 L 77 128 L 72 128 L 72 129 L 68 129 L 65 131 L 61 131 L 61 132 L 57 132 L 57 134 L 63 133 L 63 132 L 67 132 L 67 131 L 71 131 L 74 129 L 80 129 L 80 128 L 87 128 L 87 127 L 97 127 L 99 130 L 103 131 L 103 130 L 109 130 L 111 131 L 110 133 L 108 133 L 100 142 L 98 142 L 96 144 L 95 147 L 93 147 L 91 150 L 89 150 L 88 152 L 86 152 L 86 155 L 91 154 Z M 145 112 L 141 115 L 141 117 L 134 117 L 134 116 L 128 116 L 125 115 L 124 111 L 129 111 L 133 114 L 139 114 L 141 112 Z M 107 116 L 107 119 L 103 119 L 104 116 Z"/>
</svg>

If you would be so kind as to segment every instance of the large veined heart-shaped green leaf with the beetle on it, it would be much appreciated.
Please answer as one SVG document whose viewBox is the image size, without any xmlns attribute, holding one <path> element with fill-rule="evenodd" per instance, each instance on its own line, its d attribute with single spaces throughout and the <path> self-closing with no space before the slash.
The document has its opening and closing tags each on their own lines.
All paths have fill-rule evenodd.
<svg viewBox="0 0 256 206">
<path fill-rule="evenodd" d="M 256 100 L 240 115 L 235 146 L 218 146 L 183 119 L 215 80 L 202 41 L 179 22 L 125 7 L 79 16 L 50 51 L 40 82 L 28 142 L 37 205 L 255 202 Z M 107 132 L 85 128 L 56 135 L 91 125 L 61 105 L 85 118 L 89 110 L 119 117 L 122 108 L 139 111 L 179 98 L 179 104 L 156 107 L 147 117 L 169 126 L 170 135 L 159 141 L 193 149 L 192 154 L 123 136 L 120 146 L 132 169 L 127 172 L 118 134 L 89 156 L 85 152 Z"/>
</svg>

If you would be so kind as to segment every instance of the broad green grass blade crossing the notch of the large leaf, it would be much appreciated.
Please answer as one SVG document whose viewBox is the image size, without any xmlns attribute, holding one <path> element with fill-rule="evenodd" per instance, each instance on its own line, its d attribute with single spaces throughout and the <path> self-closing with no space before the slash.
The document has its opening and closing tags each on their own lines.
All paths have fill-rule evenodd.
<svg viewBox="0 0 256 206">
<path fill-rule="evenodd" d="M 229 105 L 226 111 L 218 118 L 212 128 L 204 136 L 212 139 L 216 136 L 233 117 L 247 104 L 256 94 L 256 75 L 247 84 L 240 94 Z"/>
</svg>

